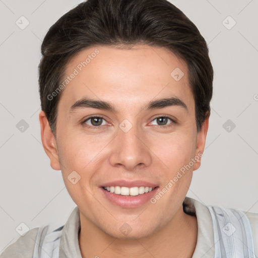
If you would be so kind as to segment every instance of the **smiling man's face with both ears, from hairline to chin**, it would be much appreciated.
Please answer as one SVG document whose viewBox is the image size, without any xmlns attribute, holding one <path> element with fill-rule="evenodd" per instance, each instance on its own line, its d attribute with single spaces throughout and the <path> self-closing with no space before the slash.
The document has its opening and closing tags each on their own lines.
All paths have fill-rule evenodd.
<svg viewBox="0 0 258 258">
<path fill-rule="evenodd" d="M 197 133 L 186 63 L 161 47 L 96 46 L 67 76 L 56 140 L 43 112 L 41 137 L 81 221 L 117 238 L 158 232 L 182 213 L 208 129 L 207 120 Z"/>
</svg>

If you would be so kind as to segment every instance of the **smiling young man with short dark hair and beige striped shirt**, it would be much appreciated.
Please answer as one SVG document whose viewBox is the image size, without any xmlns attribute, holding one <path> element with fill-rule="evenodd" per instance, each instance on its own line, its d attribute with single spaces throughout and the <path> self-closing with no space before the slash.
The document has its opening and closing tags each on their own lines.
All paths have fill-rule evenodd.
<svg viewBox="0 0 258 258">
<path fill-rule="evenodd" d="M 209 125 L 213 68 L 165 0 L 88 0 L 41 47 L 44 150 L 77 207 L 2 257 L 255 257 L 258 215 L 187 198 Z"/>
</svg>

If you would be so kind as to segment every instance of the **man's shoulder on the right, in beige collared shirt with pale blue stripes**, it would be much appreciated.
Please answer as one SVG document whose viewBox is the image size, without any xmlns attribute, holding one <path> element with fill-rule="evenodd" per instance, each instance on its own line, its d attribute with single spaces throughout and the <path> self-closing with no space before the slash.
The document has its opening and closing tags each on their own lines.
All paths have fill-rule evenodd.
<svg viewBox="0 0 258 258">
<path fill-rule="evenodd" d="M 221 257 L 231 251 L 234 256 L 236 250 L 239 254 L 248 252 L 249 257 L 253 253 L 258 254 L 258 213 L 205 205 L 188 197 L 184 200 L 183 207 L 187 214 L 197 215 L 199 244 L 200 241 L 203 245 L 204 241 L 212 239 L 215 253 L 221 253 Z M 210 248 L 211 245 L 208 246 Z M 247 256 L 243 254 L 241 257 Z"/>
</svg>

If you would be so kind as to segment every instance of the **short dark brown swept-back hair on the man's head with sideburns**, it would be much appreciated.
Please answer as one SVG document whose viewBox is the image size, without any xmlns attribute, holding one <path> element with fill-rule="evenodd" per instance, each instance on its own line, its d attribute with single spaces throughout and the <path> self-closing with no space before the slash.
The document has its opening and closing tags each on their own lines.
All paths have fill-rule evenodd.
<svg viewBox="0 0 258 258">
<path fill-rule="evenodd" d="M 199 132 L 210 115 L 213 68 L 205 39 L 197 27 L 166 0 L 88 0 L 64 14 L 48 30 L 39 64 L 41 109 L 56 137 L 57 104 L 66 65 L 79 51 L 94 45 L 148 44 L 166 47 L 188 67 Z M 171 71 L 172 72 L 172 71 Z"/>
</svg>

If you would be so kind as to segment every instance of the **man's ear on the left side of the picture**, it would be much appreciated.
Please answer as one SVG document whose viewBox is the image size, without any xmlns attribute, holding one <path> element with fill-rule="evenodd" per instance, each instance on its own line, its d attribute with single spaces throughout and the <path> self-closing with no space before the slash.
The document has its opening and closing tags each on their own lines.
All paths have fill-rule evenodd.
<svg viewBox="0 0 258 258">
<path fill-rule="evenodd" d="M 48 123 L 46 114 L 42 110 L 39 113 L 39 122 L 41 127 L 41 141 L 42 141 L 45 153 L 50 159 L 50 166 L 54 170 L 61 170 L 58 152 L 57 152 L 56 140 L 52 133 L 50 125 Z"/>
</svg>

